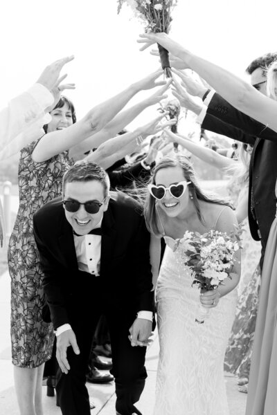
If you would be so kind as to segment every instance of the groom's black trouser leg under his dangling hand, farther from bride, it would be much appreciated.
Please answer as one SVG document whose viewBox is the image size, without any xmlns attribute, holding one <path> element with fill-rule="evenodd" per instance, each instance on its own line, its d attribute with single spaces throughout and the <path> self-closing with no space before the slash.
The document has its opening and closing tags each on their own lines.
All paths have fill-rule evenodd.
<svg viewBox="0 0 277 415">
<path fill-rule="evenodd" d="M 79 299 L 73 301 L 70 308 L 70 324 L 75 333 L 80 354 L 76 355 L 69 347 L 67 360 L 70 370 L 68 374 L 62 374 L 59 370 L 57 378 L 57 400 L 59 400 L 62 414 L 64 415 L 90 415 L 89 394 L 87 391 L 86 373 L 89 364 L 89 354 L 93 334 L 98 323 L 101 310 L 96 304 L 96 295 L 93 295 L 93 287 L 89 286 L 90 298 L 87 295 L 78 295 Z M 80 301 L 82 299 L 83 301 Z"/>
</svg>

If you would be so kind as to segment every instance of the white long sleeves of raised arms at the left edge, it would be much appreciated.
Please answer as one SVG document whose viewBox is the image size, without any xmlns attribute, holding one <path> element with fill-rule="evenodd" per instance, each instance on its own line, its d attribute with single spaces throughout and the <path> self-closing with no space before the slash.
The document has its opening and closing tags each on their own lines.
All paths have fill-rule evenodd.
<svg viewBox="0 0 277 415">
<path fill-rule="evenodd" d="M 51 120 L 45 114 L 53 95 L 42 84 L 31 86 L 0 111 L 0 160 L 16 154 L 44 134 L 42 127 Z"/>
</svg>

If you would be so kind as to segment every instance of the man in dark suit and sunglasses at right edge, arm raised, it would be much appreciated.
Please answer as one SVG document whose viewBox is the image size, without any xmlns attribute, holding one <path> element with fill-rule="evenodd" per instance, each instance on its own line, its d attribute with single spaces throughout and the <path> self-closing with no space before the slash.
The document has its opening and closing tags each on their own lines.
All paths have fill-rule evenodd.
<svg viewBox="0 0 277 415">
<path fill-rule="evenodd" d="M 251 84 L 266 95 L 267 67 L 277 59 L 277 53 L 268 53 L 255 59 L 247 68 Z M 249 227 L 251 235 L 262 243 L 262 267 L 271 224 L 276 214 L 275 183 L 277 178 L 277 133 L 232 107 L 219 94 L 210 91 L 190 77 L 184 82 L 188 93 L 198 95 L 208 107 L 191 103 L 199 115 L 203 129 L 242 141 L 253 147 L 249 165 Z"/>
</svg>

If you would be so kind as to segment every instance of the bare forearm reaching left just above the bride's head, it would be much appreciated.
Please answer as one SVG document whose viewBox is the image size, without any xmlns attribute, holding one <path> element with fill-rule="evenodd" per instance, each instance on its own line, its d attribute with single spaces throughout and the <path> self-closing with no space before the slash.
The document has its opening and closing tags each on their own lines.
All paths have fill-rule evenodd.
<svg viewBox="0 0 277 415">
<path fill-rule="evenodd" d="M 204 162 L 217 167 L 217 169 L 228 169 L 237 163 L 233 160 L 233 158 L 224 157 L 221 154 L 218 154 L 217 151 L 213 151 L 212 149 L 208 149 L 208 147 L 196 144 L 180 134 L 172 133 L 169 129 L 166 129 L 165 133 L 170 142 L 177 142 L 181 145 L 181 147 L 184 147 Z"/>
</svg>

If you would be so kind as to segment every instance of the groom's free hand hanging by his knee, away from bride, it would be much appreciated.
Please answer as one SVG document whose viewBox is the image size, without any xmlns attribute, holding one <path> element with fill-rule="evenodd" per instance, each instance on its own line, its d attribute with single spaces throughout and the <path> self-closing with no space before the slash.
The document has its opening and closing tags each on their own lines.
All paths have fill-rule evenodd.
<svg viewBox="0 0 277 415">
<path fill-rule="evenodd" d="M 75 354 L 80 354 L 80 349 L 77 344 L 76 336 L 73 330 L 66 330 L 57 336 L 57 362 L 64 374 L 68 374 L 70 370 L 69 362 L 66 358 L 66 350 L 69 346 Z"/>
</svg>

